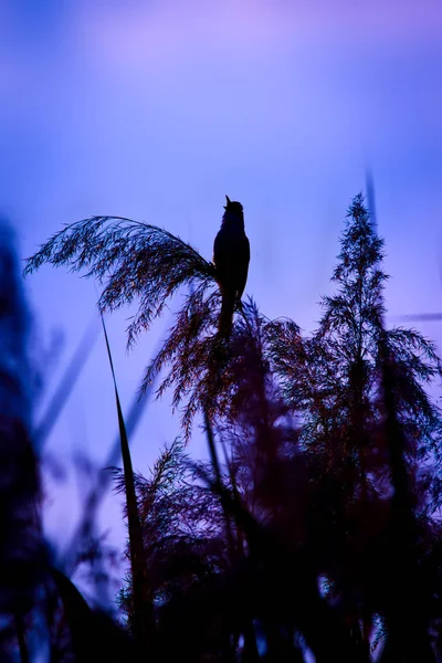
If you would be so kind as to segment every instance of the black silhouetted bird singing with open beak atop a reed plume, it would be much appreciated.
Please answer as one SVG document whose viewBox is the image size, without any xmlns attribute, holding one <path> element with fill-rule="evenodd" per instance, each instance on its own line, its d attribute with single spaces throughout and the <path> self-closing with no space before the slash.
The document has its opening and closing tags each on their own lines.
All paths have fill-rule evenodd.
<svg viewBox="0 0 442 663">
<path fill-rule="evenodd" d="M 241 302 L 248 281 L 250 243 L 244 230 L 244 211 L 240 202 L 225 196 L 227 204 L 221 229 L 213 243 L 213 263 L 221 291 L 219 334 L 228 337 L 232 329 L 233 312 Z"/>
</svg>

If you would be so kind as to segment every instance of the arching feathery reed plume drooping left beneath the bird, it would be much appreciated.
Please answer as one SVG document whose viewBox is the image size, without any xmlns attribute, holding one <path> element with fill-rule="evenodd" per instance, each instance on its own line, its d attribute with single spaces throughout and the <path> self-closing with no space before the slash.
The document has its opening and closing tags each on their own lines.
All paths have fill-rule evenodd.
<svg viewBox="0 0 442 663">
<path fill-rule="evenodd" d="M 139 301 L 128 326 L 128 346 L 161 314 L 169 297 L 192 284 L 176 315 L 168 338 L 149 367 L 144 388 L 164 367 L 168 376 L 158 393 L 173 387 L 173 407 L 186 403 L 182 423 L 187 438 L 197 411 L 214 414 L 229 402 L 224 393 L 230 354 L 215 341 L 221 295 L 212 263 L 192 246 L 160 228 L 124 218 L 92 217 L 60 231 L 27 261 L 25 274 L 44 263 L 85 271 L 103 284 L 102 313 Z M 210 290 L 214 286 L 214 290 Z"/>
</svg>

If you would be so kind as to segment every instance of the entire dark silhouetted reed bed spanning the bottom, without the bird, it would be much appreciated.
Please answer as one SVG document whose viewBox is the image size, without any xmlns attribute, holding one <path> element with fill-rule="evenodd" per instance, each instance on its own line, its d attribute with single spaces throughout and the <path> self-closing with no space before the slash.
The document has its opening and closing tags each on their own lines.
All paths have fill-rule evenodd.
<svg viewBox="0 0 442 663">
<path fill-rule="evenodd" d="M 41 530 L 30 319 L 2 236 L 1 661 L 441 660 L 442 418 L 428 387 L 442 366 L 417 330 L 385 324 L 383 242 L 361 194 L 309 335 L 250 298 L 218 334 L 213 265 L 145 223 L 81 221 L 28 261 L 27 273 L 49 262 L 96 278 L 102 314 L 137 298 L 129 344 L 188 288 L 144 379 L 159 397 L 171 390 L 182 435 L 146 476 L 131 469 L 103 322 L 123 465 L 113 483 L 128 526 L 123 620 L 84 599 Z M 194 421 L 207 462 L 189 454 Z M 75 538 L 86 561 L 105 490 L 91 493 Z"/>
</svg>

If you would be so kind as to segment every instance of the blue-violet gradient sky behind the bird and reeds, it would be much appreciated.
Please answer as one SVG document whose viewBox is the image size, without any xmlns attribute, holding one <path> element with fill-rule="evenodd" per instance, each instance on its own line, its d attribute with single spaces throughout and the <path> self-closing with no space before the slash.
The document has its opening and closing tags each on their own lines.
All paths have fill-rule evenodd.
<svg viewBox="0 0 442 663">
<path fill-rule="evenodd" d="M 116 214 L 210 259 L 228 193 L 244 204 L 252 245 L 246 293 L 309 330 L 369 166 L 390 312 L 440 311 L 441 81 L 440 0 L 0 0 L 0 211 L 22 257 L 63 223 Z M 96 292 L 49 266 L 25 286 L 43 343 L 65 335 L 51 392 Z M 165 325 L 127 355 L 129 313 L 108 319 L 126 408 Z M 442 340 L 442 327 L 420 328 Z M 168 404 L 143 420 L 136 470 L 178 430 Z M 99 339 L 49 449 L 103 463 L 115 433 Z M 49 485 L 48 527 L 61 540 L 75 482 L 70 471 L 66 486 Z M 119 508 L 112 497 L 103 515 L 115 540 Z"/>
</svg>

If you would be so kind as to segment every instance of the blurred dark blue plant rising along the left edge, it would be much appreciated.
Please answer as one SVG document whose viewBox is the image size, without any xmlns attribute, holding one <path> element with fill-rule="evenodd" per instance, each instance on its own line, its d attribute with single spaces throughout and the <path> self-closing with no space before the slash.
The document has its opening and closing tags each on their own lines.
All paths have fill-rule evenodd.
<svg viewBox="0 0 442 663">
<path fill-rule="evenodd" d="M 0 227 L 0 613 L 2 660 L 32 655 L 27 630 L 48 573 L 41 482 L 31 438 L 30 315 L 11 229 Z M 28 379 L 27 379 L 28 378 Z"/>
</svg>

